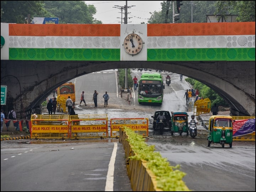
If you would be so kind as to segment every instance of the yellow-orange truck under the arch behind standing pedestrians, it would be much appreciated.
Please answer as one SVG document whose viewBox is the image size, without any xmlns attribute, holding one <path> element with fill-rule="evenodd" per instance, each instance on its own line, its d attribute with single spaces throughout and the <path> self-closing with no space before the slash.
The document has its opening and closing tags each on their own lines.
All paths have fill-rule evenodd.
<svg viewBox="0 0 256 192">
<path fill-rule="evenodd" d="M 57 88 L 57 112 L 67 112 L 66 100 L 70 96 L 75 102 L 75 84 L 66 82 Z"/>
</svg>

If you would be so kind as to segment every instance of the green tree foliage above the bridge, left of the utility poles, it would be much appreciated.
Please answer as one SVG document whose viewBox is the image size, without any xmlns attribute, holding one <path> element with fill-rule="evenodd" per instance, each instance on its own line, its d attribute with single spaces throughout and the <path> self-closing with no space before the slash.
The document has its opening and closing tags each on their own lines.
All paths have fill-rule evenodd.
<svg viewBox="0 0 256 192">
<path fill-rule="evenodd" d="M 58 17 L 59 23 L 97 23 L 94 5 L 84 1 L 1 1 L 1 22 L 25 23 L 30 17 Z"/>
</svg>

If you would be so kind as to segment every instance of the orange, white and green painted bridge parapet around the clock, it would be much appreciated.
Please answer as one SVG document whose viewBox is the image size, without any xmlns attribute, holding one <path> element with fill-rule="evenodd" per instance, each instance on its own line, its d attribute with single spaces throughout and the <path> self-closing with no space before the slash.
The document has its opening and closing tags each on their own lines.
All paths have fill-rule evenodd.
<svg viewBox="0 0 256 192">
<path fill-rule="evenodd" d="M 130 33 L 143 41 L 137 55 L 123 48 Z M 1 60 L 255 61 L 255 22 L 1 23 Z"/>
</svg>

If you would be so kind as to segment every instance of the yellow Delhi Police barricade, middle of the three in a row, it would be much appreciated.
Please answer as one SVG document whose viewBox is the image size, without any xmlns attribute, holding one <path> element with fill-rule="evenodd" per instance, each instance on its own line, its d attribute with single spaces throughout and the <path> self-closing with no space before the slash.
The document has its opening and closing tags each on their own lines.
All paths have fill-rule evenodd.
<svg viewBox="0 0 256 192">
<path fill-rule="evenodd" d="M 78 114 L 70 116 L 71 139 L 108 137 L 107 114 Z"/>
</svg>

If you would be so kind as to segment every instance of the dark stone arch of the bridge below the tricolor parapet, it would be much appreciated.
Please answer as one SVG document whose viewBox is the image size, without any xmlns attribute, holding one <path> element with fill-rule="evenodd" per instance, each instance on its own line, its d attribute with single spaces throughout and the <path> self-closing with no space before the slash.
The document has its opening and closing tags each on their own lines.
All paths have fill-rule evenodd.
<svg viewBox="0 0 256 192">
<path fill-rule="evenodd" d="M 15 66 L 10 68 L 10 66 Z M 245 67 L 246 66 L 246 67 Z M 41 105 L 63 82 L 96 71 L 159 68 L 196 79 L 222 96 L 233 115 L 255 116 L 255 62 L 56 62 L 1 61 L 1 85 L 7 85 L 17 115 Z M 50 73 L 49 73 L 50 69 Z M 16 77 L 16 78 L 14 78 Z M 12 97 L 14 95 L 14 97 Z"/>
</svg>

